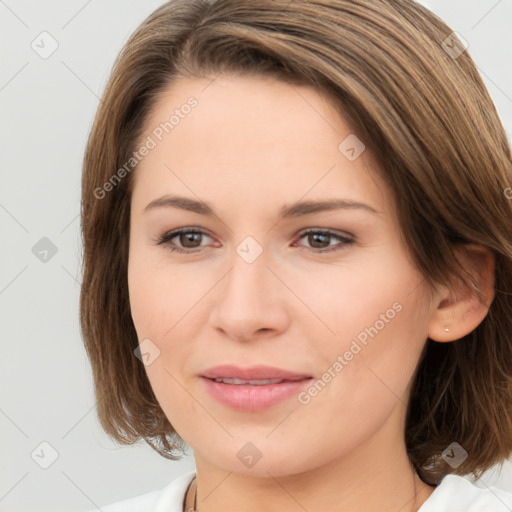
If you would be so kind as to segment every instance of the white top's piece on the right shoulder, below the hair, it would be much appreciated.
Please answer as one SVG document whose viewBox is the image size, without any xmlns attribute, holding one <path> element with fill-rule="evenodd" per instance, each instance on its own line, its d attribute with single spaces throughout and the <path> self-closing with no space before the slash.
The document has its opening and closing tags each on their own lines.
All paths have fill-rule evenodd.
<svg viewBox="0 0 512 512">
<path fill-rule="evenodd" d="M 510 512 L 512 492 L 446 475 L 418 512 Z"/>
</svg>

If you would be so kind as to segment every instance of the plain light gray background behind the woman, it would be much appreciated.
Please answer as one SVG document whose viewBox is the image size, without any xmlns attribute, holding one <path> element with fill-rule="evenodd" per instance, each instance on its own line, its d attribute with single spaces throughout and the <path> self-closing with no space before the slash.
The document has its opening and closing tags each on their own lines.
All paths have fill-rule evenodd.
<svg viewBox="0 0 512 512">
<path fill-rule="evenodd" d="M 194 468 L 101 431 L 78 325 L 86 138 L 115 56 L 161 3 L 0 0 L 1 511 L 87 510 Z M 469 43 L 510 139 L 512 0 L 423 3 Z M 44 31 L 58 43 L 47 58 L 31 47 L 51 49 Z M 43 237 L 57 249 L 46 262 L 32 251 Z M 51 460 L 43 441 L 58 453 L 48 469 L 34 461 Z M 512 488 L 511 467 L 487 481 Z"/>
</svg>

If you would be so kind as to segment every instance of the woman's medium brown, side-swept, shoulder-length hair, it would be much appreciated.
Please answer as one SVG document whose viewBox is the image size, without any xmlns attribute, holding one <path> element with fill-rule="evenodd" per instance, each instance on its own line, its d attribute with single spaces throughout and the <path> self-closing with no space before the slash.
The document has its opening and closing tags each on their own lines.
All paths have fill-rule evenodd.
<svg viewBox="0 0 512 512">
<path fill-rule="evenodd" d="M 511 151 L 473 61 L 451 33 L 412 0 L 177 0 L 133 33 L 98 108 L 82 178 L 80 321 L 109 435 L 123 444 L 142 438 L 170 459 L 184 453 L 134 356 L 127 284 L 134 173 L 119 169 L 174 80 L 226 72 L 313 85 L 329 95 L 375 155 L 429 289 L 459 276 L 478 294 L 454 248 L 477 243 L 492 251 L 495 298 L 487 316 L 460 340 L 427 339 L 405 442 L 431 484 L 448 473 L 480 476 L 509 457 Z M 441 457 L 454 441 L 468 453 L 457 468 Z"/>
</svg>

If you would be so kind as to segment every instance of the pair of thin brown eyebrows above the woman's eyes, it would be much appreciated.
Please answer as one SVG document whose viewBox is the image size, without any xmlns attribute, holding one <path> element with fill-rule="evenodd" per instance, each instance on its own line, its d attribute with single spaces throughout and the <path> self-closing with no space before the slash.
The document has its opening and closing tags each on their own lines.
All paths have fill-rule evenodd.
<svg viewBox="0 0 512 512">
<path fill-rule="evenodd" d="M 162 196 L 158 199 L 154 199 L 144 208 L 143 213 L 156 208 L 180 208 L 200 215 L 214 215 L 213 209 L 207 203 L 181 196 Z M 281 208 L 279 217 L 281 219 L 287 219 L 341 209 L 360 209 L 375 214 L 381 213 L 372 206 L 361 203 L 360 201 L 353 201 L 351 199 L 329 199 L 326 201 L 301 201 L 292 206 L 285 205 Z"/>
</svg>

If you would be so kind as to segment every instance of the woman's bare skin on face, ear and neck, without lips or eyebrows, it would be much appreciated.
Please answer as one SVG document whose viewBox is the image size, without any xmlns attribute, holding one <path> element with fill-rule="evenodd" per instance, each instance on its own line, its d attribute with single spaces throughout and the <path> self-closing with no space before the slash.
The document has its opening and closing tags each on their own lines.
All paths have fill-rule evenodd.
<svg viewBox="0 0 512 512">
<path fill-rule="evenodd" d="M 365 150 L 350 161 L 338 149 L 353 131 L 315 89 L 182 78 L 159 99 L 141 140 L 190 96 L 197 106 L 135 171 L 128 282 L 139 340 L 160 350 L 146 366 L 151 385 L 194 450 L 198 510 L 418 511 L 434 490 L 404 443 L 421 350 L 428 336 L 449 342 L 471 332 L 487 308 L 462 285 L 429 293 L 400 243 L 373 156 Z M 204 201 L 214 214 L 145 211 L 164 195 Z M 285 205 L 341 198 L 374 211 L 279 218 Z M 155 242 L 183 227 L 196 239 Z M 331 235 L 303 235 L 307 228 Z M 257 243 L 250 251 L 262 249 L 251 263 L 237 252 L 249 236 Z M 490 303 L 492 256 L 475 248 L 461 257 L 478 265 Z M 264 364 L 321 379 L 358 334 L 381 324 L 308 403 L 291 397 L 264 411 L 234 410 L 199 375 L 219 364 Z M 247 443 L 261 454 L 251 467 L 238 456 Z"/>
</svg>

